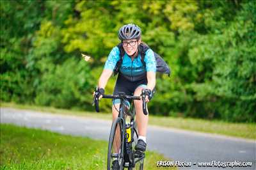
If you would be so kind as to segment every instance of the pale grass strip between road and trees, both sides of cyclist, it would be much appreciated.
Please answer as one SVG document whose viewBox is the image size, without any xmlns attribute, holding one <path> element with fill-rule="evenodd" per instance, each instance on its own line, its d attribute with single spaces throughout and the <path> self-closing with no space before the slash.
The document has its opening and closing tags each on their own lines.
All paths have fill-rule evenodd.
<svg viewBox="0 0 256 170">
<path fill-rule="evenodd" d="M 68 114 L 76 116 L 86 116 L 91 118 L 100 118 L 111 120 L 112 115 L 107 113 L 70 111 L 67 109 L 56 109 L 53 107 L 38 107 L 34 105 L 20 105 L 13 103 L 1 103 L 1 107 L 13 107 L 17 109 L 31 109 L 42 112 L 52 112 L 59 114 Z M 110 111 L 110 109 L 109 109 Z M 224 121 L 210 121 L 194 118 L 173 118 L 163 116 L 152 116 L 149 118 L 150 125 L 160 127 L 179 128 L 192 130 L 196 132 L 207 132 L 212 134 L 228 135 L 232 137 L 242 137 L 245 139 L 256 139 L 256 123 L 228 123 Z"/>
</svg>

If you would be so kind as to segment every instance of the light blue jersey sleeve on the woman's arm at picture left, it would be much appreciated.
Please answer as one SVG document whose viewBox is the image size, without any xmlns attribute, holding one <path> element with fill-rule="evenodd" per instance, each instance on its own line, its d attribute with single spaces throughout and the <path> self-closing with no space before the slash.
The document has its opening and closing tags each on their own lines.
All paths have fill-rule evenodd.
<svg viewBox="0 0 256 170">
<path fill-rule="evenodd" d="M 114 47 L 108 55 L 108 59 L 104 65 L 104 69 L 113 71 L 116 66 L 117 61 L 120 58 L 119 54 L 120 54 L 120 52 L 119 52 L 118 47 Z"/>
</svg>

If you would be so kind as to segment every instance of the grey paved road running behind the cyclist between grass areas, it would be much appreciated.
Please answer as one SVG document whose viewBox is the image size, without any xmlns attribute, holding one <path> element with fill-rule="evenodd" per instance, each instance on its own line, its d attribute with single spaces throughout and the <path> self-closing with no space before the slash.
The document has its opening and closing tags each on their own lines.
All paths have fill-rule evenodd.
<svg viewBox="0 0 256 170">
<path fill-rule="evenodd" d="M 106 120 L 11 108 L 1 108 L 1 123 L 13 123 L 106 141 L 111 127 L 111 121 Z M 180 167 L 180 169 L 206 169 L 206 167 L 198 167 L 198 162 L 214 160 L 216 162 L 235 160 L 252 162 L 252 167 L 234 167 L 232 169 L 255 169 L 256 141 L 253 140 L 149 126 L 147 141 L 149 150 L 163 153 L 166 157 L 173 158 L 175 161 L 191 162 L 191 167 Z M 193 166 L 194 162 L 196 166 Z M 220 168 L 208 167 L 207 169 Z"/>
</svg>

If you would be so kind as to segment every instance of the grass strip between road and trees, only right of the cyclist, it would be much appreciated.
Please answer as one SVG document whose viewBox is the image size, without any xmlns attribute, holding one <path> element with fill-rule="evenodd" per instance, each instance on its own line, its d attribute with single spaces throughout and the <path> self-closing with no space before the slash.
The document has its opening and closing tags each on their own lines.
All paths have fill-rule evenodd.
<svg viewBox="0 0 256 170">
<path fill-rule="evenodd" d="M 161 127 L 179 128 L 206 132 L 211 134 L 228 135 L 245 139 L 256 139 L 255 123 L 228 123 L 224 121 L 209 121 L 193 118 L 172 118 L 152 116 L 149 119 L 150 125 Z"/>
</svg>

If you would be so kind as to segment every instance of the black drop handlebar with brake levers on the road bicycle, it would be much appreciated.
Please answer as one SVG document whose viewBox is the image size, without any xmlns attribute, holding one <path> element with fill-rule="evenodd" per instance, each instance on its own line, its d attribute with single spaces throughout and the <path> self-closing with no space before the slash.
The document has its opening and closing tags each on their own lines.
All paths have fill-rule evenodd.
<svg viewBox="0 0 256 170">
<path fill-rule="evenodd" d="M 97 92 L 97 88 L 96 88 L 95 89 L 95 95 L 93 97 L 93 102 L 92 102 L 92 105 L 95 104 L 96 112 L 100 112 L 99 111 L 99 97 L 97 97 L 98 95 L 99 95 L 99 92 Z M 132 100 L 141 100 L 141 98 L 142 98 L 143 113 L 145 115 L 148 114 L 148 112 L 147 112 L 147 102 L 145 102 L 145 98 L 146 98 L 145 89 L 141 90 L 141 96 L 140 97 L 134 97 L 134 96 L 130 96 L 130 95 L 125 95 L 124 92 L 119 92 L 118 95 L 102 95 L 102 98 L 113 98 L 113 99 L 127 98 L 127 99 L 132 99 Z"/>
</svg>

